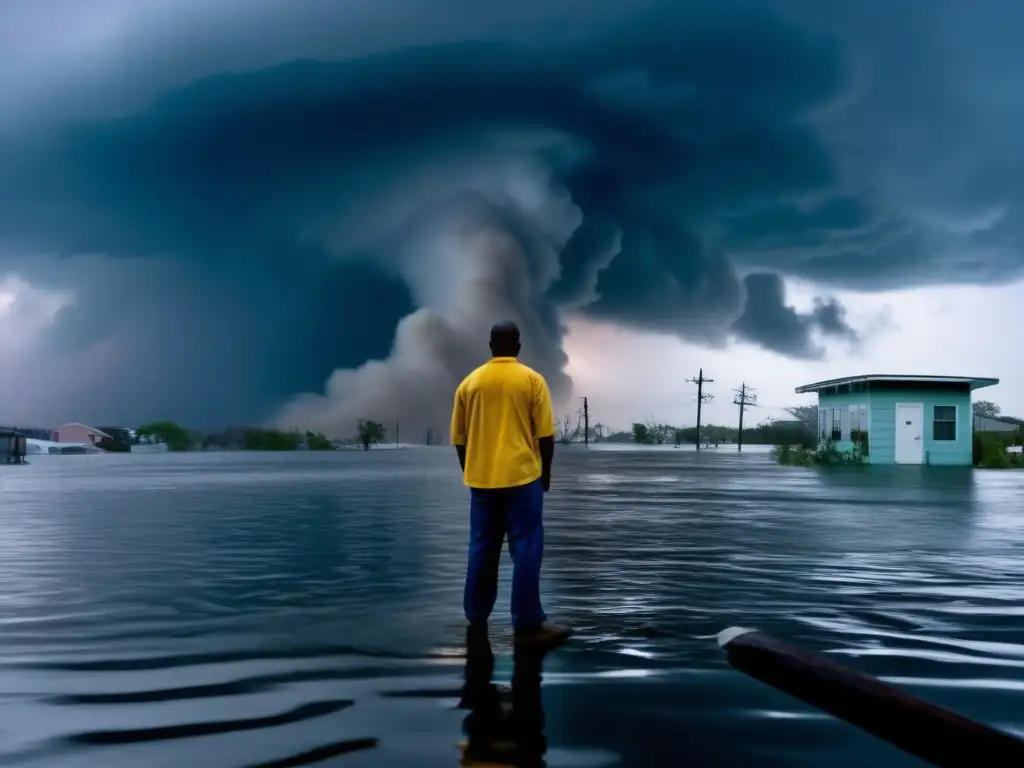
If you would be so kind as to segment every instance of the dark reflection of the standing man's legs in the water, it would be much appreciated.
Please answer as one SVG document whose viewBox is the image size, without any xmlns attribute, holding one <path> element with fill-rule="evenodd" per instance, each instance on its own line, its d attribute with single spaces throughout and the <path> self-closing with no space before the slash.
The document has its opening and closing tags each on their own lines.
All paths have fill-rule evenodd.
<svg viewBox="0 0 1024 768">
<path fill-rule="evenodd" d="M 546 649 L 516 647 L 512 690 L 492 681 L 495 655 L 486 630 L 466 632 L 466 681 L 459 707 L 469 710 L 463 721 L 467 739 L 462 765 L 545 768 L 541 668 Z"/>
</svg>

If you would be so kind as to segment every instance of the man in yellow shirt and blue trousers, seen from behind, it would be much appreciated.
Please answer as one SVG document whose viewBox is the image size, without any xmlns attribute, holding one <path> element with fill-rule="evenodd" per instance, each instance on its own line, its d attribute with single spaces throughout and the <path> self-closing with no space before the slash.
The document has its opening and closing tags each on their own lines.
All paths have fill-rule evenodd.
<svg viewBox="0 0 1024 768">
<path fill-rule="evenodd" d="M 567 629 L 541 605 L 544 494 L 551 485 L 555 415 L 548 383 L 516 359 L 519 329 L 490 329 L 492 358 L 463 379 L 452 410 L 452 444 L 469 486 L 469 567 L 463 599 L 470 630 L 486 630 L 498 597 L 502 544 L 512 555 L 517 643 L 554 646 Z"/>
</svg>

